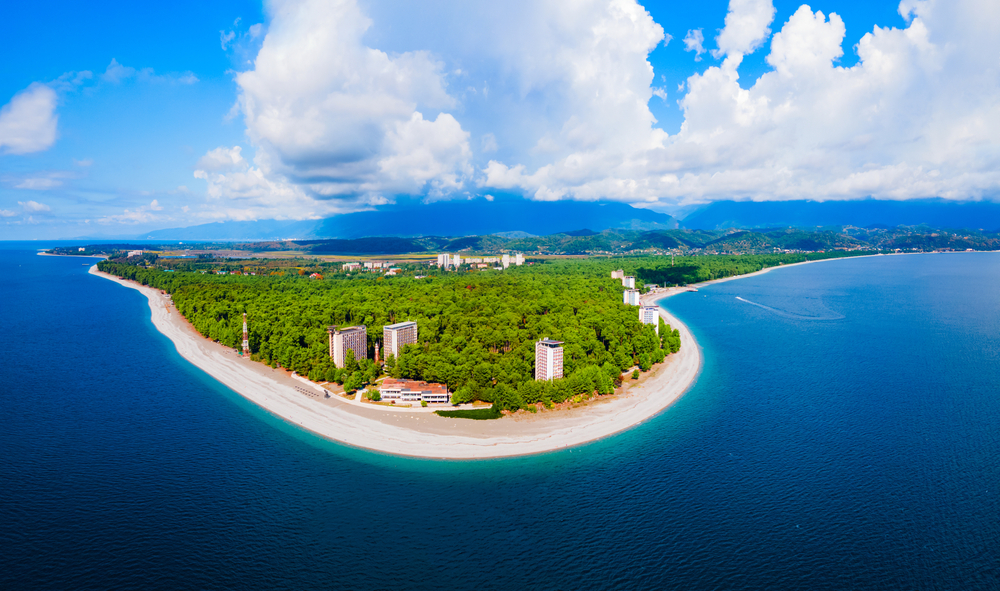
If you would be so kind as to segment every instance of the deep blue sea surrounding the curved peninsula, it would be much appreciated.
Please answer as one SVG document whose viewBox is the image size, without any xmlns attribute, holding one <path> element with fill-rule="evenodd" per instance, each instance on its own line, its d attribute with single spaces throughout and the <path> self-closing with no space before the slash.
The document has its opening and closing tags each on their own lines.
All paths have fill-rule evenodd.
<svg viewBox="0 0 1000 591">
<path fill-rule="evenodd" d="M 0 246 L 0 589 L 1000 589 L 1000 253 L 678 296 L 668 411 L 440 462 L 258 410 L 39 246 Z"/>
</svg>

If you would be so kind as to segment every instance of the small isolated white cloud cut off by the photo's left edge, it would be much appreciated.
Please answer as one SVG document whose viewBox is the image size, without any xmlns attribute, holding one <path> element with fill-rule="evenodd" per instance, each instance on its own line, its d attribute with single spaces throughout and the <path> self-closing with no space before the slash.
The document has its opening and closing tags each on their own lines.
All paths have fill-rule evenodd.
<svg viewBox="0 0 1000 591">
<path fill-rule="evenodd" d="M 56 142 L 57 97 L 50 87 L 35 82 L 0 108 L 0 153 L 28 154 Z"/>
</svg>

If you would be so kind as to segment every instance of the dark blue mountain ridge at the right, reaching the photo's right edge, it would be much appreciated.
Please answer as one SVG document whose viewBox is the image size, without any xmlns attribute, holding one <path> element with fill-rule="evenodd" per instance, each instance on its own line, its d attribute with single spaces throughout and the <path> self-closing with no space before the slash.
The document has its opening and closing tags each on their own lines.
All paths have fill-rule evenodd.
<svg viewBox="0 0 1000 591">
<path fill-rule="evenodd" d="M 911 201 L 718 201 L 684 218 L 683 227 L 724 228 L 862 228 L 928 225 L 935 228 L 1000 229 L 1000 204 L 945 199 Z"/>
</svg>

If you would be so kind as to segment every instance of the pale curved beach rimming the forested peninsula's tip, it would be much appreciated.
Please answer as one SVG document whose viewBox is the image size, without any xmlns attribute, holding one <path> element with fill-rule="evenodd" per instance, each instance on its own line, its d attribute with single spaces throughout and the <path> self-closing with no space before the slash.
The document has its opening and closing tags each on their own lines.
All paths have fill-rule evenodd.
<svg viewBox="0 0 1000 591">
<path fill-rule="evenodd" d="M 537 454 L 613 435 L 656 415 L 681 397 L 701 368 L 701 351 L 688 328 L 667 311 L 664 321 L 681 335 L 681 350 L 626 393 L 583 407 L 494 421 L 447 419 L 428 412 L 385 412 L 332 397 L 307 396 L 286 372 L 243 359 L 202 337 L 159 290 L 102 273 L 138 290 L 149 301 L 153 325 L 182 357 L 247 400 L 313 433 L 373 451 L 423 458 L 482 459 Z M 684 290 L 647 296 L 645 303 Z M 307 387 L 308 388 L 308 387 Z"/>
</svg>

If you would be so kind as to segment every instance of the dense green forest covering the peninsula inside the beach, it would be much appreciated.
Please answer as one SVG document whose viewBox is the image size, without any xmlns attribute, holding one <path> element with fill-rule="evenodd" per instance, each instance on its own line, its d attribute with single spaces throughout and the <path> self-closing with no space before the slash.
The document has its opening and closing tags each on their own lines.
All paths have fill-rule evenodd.
<svg viewBox="0 0 1000 591">
<path fill-rule="evenodd" d="M 622 303 L 622 268 L 644 284 L 686 284 L 749 273 L 821 255 L 734 257 L 619 257 L 548 261 L 504 272 L 375 274 L 310 279 L 299 274 L 218 275 L 148 267 L 148 261 L 111 259 L 102 271 L 171 294 L 177 310 L 204 336 L 238 348 L 242 315 L 250 326 L 254 360 L 316 381 L 336 381 L 348 392 L 393 377 L 447 384 L 452 402 L 481 400 L 515 410 L 614 391 L 623 371 L 648 371 L 680 348 L 680 336 L 660 326 L 659 337 Z M 426 271 L 425 271 L 426 272 Z M 385 367 L 372 361 L 382 327 L 418 325 L 418 343 Z M 368 359 L 334 367 L 327 326 L 365 325 Z M 536 382 L 534 344 L 563 341 L 562 380 Z"/>
</svg>

